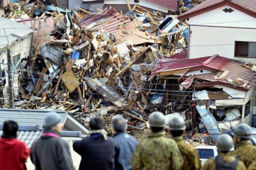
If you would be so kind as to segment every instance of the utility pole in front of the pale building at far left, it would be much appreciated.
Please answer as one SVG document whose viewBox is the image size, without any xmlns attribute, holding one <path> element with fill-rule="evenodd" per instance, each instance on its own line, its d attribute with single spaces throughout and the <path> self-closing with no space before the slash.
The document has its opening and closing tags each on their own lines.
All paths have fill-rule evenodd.
<svg viewBox="0 0 256 170">
<path fill-rule="evenodd" d="M 5 35 L 7 36 L 7 73 L 8 73 L 8 104 L 9 108 L 14 107 L 14 97 L 13 97 L 13 58 L 11 55 L 11 44 L 9 43 L 8 35 L 4 29 Z"/>
</svg>

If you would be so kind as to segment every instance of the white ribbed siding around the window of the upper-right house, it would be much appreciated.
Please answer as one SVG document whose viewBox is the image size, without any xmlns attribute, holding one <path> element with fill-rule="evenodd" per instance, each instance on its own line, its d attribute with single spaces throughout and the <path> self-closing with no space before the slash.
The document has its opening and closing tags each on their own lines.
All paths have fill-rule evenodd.
<svg viewBox="0 0 256 170">
<path fill-rule="evenodd" d="M 235 41 L 256 41 L 256 29 L 215 26 L 190 26 L 189 58 L 218 54 L 234 59 Z M 256 63 L 256 58 L 238 57 Z"/>
</svg>

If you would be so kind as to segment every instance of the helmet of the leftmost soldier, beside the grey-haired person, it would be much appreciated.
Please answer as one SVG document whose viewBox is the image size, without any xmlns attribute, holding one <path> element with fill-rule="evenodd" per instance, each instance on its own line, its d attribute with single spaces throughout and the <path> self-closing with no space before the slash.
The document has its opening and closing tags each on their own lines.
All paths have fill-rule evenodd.
<svg viewBox="0 0 256 170">
<path fill-rule="evenodd" d="M 165 127 L 164 115 L 160 111 L 154 111 L 149 116 L 149 125 L 151 127 Z"/>
</svg>

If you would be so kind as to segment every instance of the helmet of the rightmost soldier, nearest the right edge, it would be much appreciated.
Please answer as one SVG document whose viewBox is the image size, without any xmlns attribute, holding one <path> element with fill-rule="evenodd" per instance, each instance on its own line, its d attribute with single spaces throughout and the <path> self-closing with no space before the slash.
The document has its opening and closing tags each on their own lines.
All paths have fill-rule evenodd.
<svg viewBox="0 0 256 170">
<path fill-rule="evenodd" d="M 240 137 L 243 139 L 251 139 L 252 137 L 252 129 L 249 125 L 242 123 L 238 124 L 234 128 L 233 136 Z"/>
</svg>

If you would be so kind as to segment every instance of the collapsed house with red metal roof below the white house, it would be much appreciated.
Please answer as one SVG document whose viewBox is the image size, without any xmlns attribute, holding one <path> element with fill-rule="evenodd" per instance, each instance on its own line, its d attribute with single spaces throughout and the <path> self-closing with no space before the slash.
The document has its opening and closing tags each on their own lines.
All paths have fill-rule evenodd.
<svg viewBox="0 0 256 170">
<path fill-rule="evenodd" d="M 241 62 L 219 55 L 182 59 L 187 51 L 184 53 L 180 59 L 178 55 L 176 58 L 159 59 L 150 79 L 164 80 L 167 85 L 168 82 L 174 82 L 170 80 L 177 81 L 179 90 L 186 94 L 183 106 L 191 102 L 206 106 L 215 117 L 212 126 L 219 122 L 219 133 L 220 128 L 229 129 L 240 122 L 251 124 L 252 114 L 256 112 L 255 71 Z M 201 108 L 197 107 L 197 110 Z M 190 112 L 190 109 L 187 111 Z M 199 114 L 201 115 L 200 111 Z M 207 123 L 205 121 L 204 124 Z"/>
</svg>

